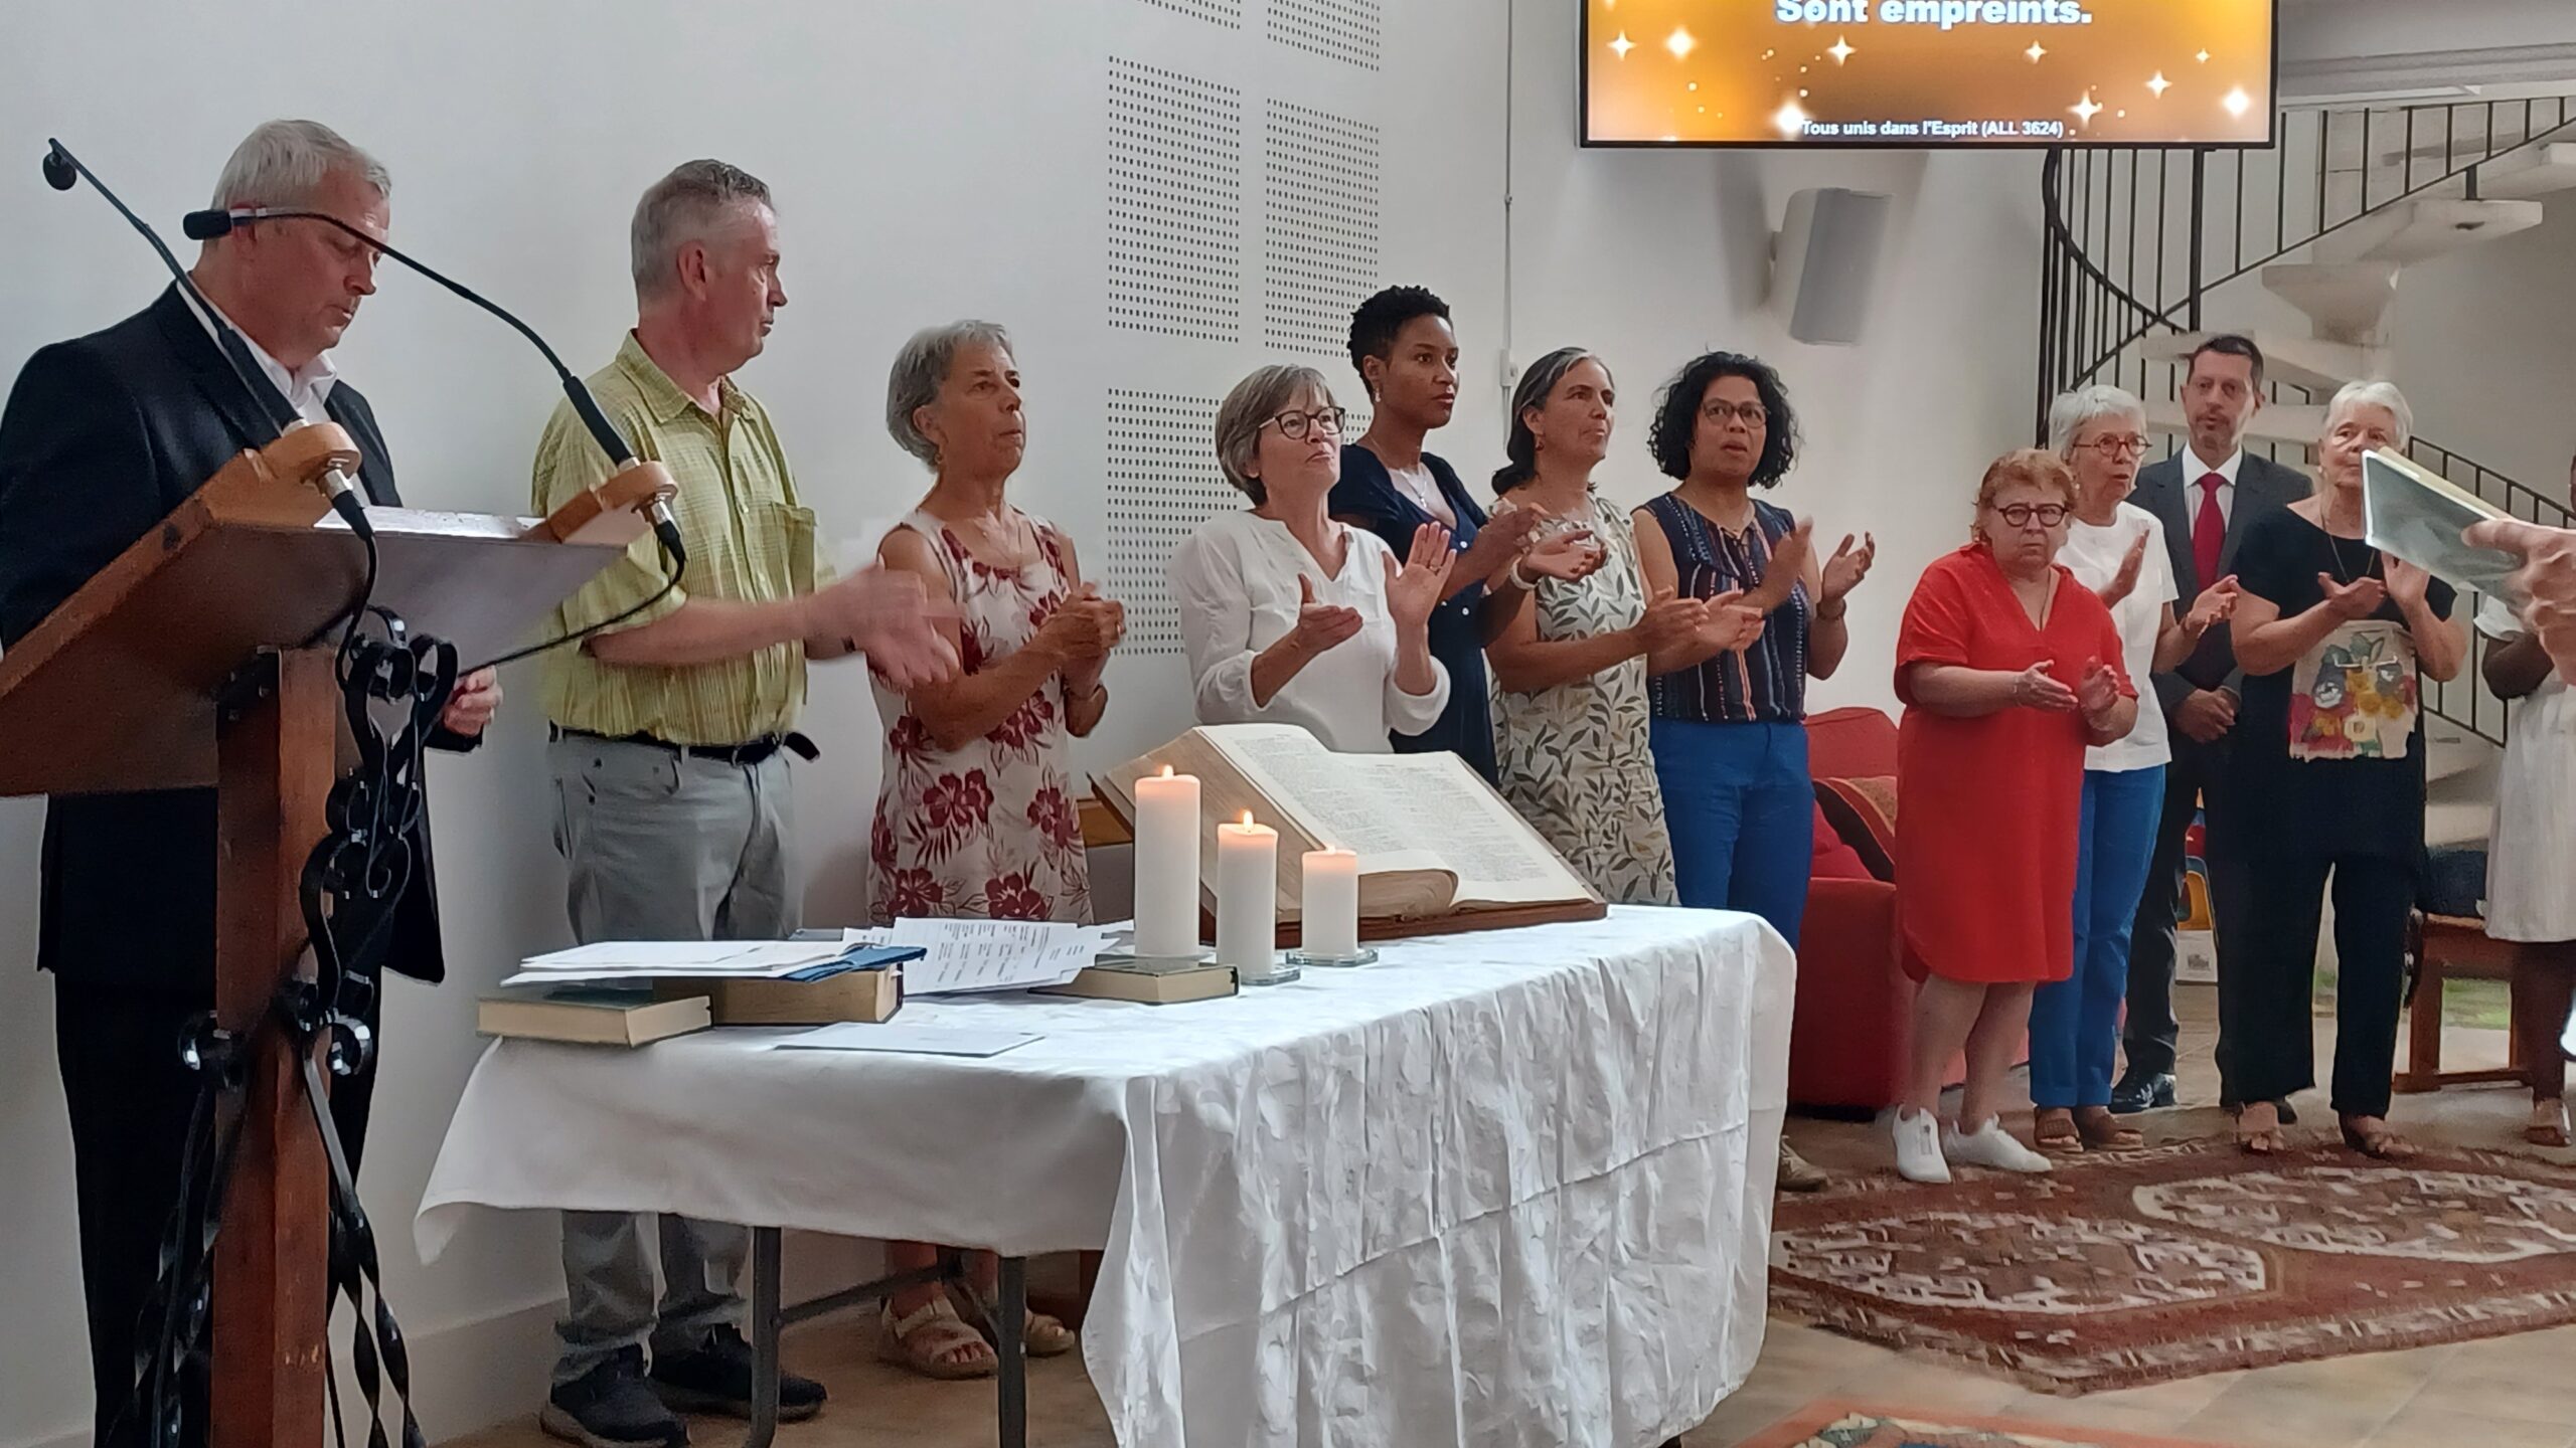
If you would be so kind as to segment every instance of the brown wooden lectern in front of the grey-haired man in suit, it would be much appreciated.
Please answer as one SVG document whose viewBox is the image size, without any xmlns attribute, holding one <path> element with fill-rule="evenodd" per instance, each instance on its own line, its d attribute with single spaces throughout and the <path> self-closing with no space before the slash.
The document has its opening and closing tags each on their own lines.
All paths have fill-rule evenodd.
<svg viewBox="0 0 2576 1448">
<path fill-rule="evenodd" d="M 327 1157 L 268 1005 L 304 969 L 296 879 L 345 745 L 332 644 L 366 554 L 325 520 L 335 464 L 355 474 L 335 425 L 240 453 L 0 654 L 0 794 L 216 786 L 216 1018 L 250 1043 L 214 1262 L 216 1448 L 325 1435 Z M 662 484 L 644 464 L 541 523 L 374 508 L 376 603 L 461 665 L 497 657 L 644 533 L 634 508 Z"/>
</svg>

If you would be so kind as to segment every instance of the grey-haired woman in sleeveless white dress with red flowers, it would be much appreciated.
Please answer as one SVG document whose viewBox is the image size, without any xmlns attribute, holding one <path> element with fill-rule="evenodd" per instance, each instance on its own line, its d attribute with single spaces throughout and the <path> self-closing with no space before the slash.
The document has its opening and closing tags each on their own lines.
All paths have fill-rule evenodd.
<svg viewBox="0 0 2576 1448">
<path fill-rule="evenodd" d="M 1010 338 L 989 322 L 914 335 L 894 361 L 886 428 L 938 477 L 878 557 L 956 603 L 943 626 L 956 629 L 961 672 L 912 691 L 876 678 L 886 770 L 873 915 L 1090 922 L 1066 750 L 1108 709 L 1100 670 L 1126 616 L 1082 582 L 1072 538 L 1002 497 L 1028 446 Z M 935 1260 L 922 1242 L 886 1244 L 889 1270 Z M 989 1257 L 976 1275 L 981 1291 L 956 1299 L 938 1283 L 896 1293 L 878 1353 L 933 1378 L 992 1376 Z M 1025 1342 L 1051 1358 L 1074 1335 L 1033 1311 Z"/>
</svg>

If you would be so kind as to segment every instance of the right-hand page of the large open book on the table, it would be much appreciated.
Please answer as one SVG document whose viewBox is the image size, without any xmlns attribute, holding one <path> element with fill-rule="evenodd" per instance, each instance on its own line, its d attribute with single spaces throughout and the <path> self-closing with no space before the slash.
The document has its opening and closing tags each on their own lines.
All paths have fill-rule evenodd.
<svg viewBox="0 0 2576 1448">
<path fill-rule="evenodd" d="M 1334 760 L 1347 791 L 1394 819 L 1412 848 L 1455 871 L 1455 904 L 1592 899 L 1530 822 L 1458 755 L 1350 755 Z"/>
</svg>

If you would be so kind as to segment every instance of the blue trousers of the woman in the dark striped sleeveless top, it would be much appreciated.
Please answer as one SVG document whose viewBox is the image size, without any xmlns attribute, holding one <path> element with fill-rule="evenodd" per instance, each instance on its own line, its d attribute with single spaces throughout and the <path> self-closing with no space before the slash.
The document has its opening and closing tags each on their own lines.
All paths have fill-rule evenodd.
<svg viewBox="0 0 2576 1448">
<path fill-rule="evenodd" d="M 1816 853 L 1806 727 L 1656 719 L 1649 742 L 1682 904 L 1759 915 L 1798 948 Z"/>
</svg>

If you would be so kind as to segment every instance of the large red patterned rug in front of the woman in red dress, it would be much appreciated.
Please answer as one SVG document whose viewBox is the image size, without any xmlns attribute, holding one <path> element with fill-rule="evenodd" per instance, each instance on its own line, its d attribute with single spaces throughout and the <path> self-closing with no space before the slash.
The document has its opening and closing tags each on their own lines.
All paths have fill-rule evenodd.
<svg viewBox="0 0 2576 1448">
<path fill-rule="evenodd" d="M 2195 1141 L 2048 1177 L 1862 1177 L 1780 1201 L 1772 1311 L 2050 1394 L 2501 1337 L 2576 1322 L 2576 1175 Z"/>
</svg>

